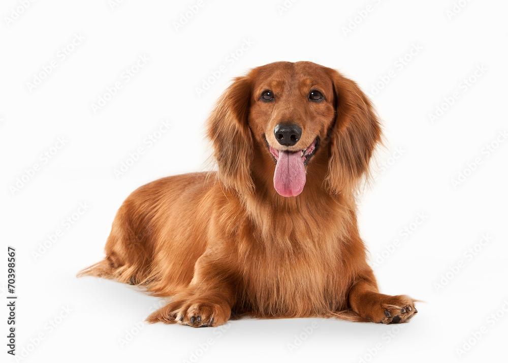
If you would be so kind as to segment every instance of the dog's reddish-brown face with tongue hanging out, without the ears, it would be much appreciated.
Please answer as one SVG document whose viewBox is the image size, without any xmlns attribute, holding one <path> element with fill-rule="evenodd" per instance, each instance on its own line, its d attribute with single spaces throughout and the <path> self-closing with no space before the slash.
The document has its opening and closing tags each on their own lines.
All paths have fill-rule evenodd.
<svg viewBox="0 0 508 363">
<path fill-rule="evenodd" d="M 248 124 L 276 164 L 280 195 L 303 191 L 307 164 L 335 120 L 334 101 L 330 74 L 314 63 L 272 63 L 253 77 Z"/>
</svg>

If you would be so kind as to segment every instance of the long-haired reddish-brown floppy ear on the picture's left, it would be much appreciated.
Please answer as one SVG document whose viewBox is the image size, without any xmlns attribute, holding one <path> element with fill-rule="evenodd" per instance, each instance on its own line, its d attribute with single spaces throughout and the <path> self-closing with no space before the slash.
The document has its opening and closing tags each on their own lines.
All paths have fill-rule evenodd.
<svg viewBox="0 0 508 363">
<path fill-rule="evenodd" d="M 218 178 L 241 194 L 253 190 L 250 160 L 252 133 L 247 124 L 252 93 L 248 76 L 235 78 L 208 119 L 208 137 L 218 164 Z"/>
</svg>

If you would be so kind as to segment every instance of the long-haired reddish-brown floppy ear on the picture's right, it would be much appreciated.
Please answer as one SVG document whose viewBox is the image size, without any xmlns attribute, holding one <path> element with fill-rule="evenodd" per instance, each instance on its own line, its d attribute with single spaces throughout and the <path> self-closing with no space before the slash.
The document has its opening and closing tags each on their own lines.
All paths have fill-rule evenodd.
<svg viewBox="0 0 508 363">
<path fill-rule="evenodd" d="M 326 181 L 331 193 L 352 191 L 369 170 L 370 158 L 382 139 L 374 108 L 356 82 L 330 70 L 336 118 L 330 131 Z"/>
</svg>

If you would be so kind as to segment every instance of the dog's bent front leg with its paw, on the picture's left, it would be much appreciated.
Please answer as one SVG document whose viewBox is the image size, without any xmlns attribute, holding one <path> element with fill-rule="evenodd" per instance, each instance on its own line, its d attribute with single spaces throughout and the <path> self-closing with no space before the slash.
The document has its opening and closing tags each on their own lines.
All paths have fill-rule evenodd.
<svg viewBox="0 0 508 363">
<path fill-rule="evenodd" d="M 194 327 L 225 324 L 236 301 L 237 283 L 230 263 L 217 256 L 208 251 L 202 255 L 189 286 L 146 320 Z"/>
</svg>

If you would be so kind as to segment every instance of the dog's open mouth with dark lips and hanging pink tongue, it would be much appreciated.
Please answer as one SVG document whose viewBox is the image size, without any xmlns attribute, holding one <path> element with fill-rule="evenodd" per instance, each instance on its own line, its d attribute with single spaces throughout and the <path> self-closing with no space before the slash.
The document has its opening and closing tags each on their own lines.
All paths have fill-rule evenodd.
<svg viewBox="0 0 508 363">
<path fill-rule="evenodd" d="M 305 150 L 298 151 L 278 150 L 268 143 L 266 137 L 265 142 L 276 164 L 273 187 L 283 197 L 296 197 L 305 186 L 305 167 L 319 146 L 319 136 Z"/>
</svg>

